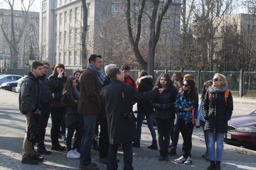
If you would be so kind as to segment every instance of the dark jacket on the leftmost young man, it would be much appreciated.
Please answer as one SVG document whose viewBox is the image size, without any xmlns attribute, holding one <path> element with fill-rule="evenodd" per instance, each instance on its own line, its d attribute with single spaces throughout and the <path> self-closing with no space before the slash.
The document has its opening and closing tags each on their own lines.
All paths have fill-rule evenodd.
<svg viewBox="0 0 256 170">
<path fill-rule="evenodd" d="M 40 108 L 40 105 L 37 104 L 37 83 L 39 83 L 39 81 L 40 80 L 35 80 L 35 76 L 32 74 L 32 72 L 28 72 L 24 76 L 22 83 L 20 83 L 20 92 L 18 98 L 20 113 L 31 116 L 32 113 Z M 40 93 L 41 92 L 39 91 L 39 95 Z"/>
</svg>

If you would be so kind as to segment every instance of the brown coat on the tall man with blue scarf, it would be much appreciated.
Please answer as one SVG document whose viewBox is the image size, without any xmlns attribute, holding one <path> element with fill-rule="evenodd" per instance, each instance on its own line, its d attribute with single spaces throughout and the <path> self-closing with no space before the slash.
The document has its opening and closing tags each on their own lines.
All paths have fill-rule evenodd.
<svg viewBox="0 0 256 170">
<path fill-rule="evenodd" d="M 98 102 L 100 89 L 101 85 L 97 76 L 92 70 L 86 68 L 80 77 L 78 112 L 93 114 L 100 112 Z"/>
</svg>

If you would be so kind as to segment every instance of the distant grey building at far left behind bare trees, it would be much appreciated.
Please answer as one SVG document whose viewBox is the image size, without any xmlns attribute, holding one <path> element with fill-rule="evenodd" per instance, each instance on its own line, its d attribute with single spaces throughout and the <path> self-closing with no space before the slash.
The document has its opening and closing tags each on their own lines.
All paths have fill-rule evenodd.
<svg viewBox="0 0 256 170">
<path fill-rule="evenodd" d="M 26 25 L 25 25 L 26 23 Z M 11 50 L 9 41 L 17 43 L 17 63 L 18 68 L 26 67 L 28 63 L 27 56 L 29 47 L 32 45 L 35 59 L 39 59 L 38 50 L 38 28 L 39 28 L 39 13 L 29 12 L 29 21 L 24 21 L 24 12 L 19 10 L 13 11 L 13 27 L 15 40 L 11 40 L 11 10 L 0 9 L 0 25 L 3 25 L 3 30 L 0 29 L 0 68 L 10 68 L 11 66 Z M 4 33 L 6 37 L 4 37 Z M 20 40 L 18 41 L 19 37 Z"/>
</svg>

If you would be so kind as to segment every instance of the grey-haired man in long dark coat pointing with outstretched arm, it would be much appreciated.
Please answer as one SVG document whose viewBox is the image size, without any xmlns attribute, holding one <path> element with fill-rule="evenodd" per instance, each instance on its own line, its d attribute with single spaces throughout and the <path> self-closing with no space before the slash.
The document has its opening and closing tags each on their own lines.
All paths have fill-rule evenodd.
<svg viewBox="0 0 256 170">
<path fill-rule="evenodd" d="M 122 84 L 124 76 L 120 67 L 111 68 L 109 77 L 110 85 L 103 87 L 99 96 L 100 108 L 106 114 L 110 142 L 106 168 L 118 168 L 116 155 L 118 145 L 122 143 L 124 169 L 133 169 L 132 142 L 137 139 L 133 102 L 156 99 L 163 89 L 137 93 L 131 85 Z"/>
</svg>

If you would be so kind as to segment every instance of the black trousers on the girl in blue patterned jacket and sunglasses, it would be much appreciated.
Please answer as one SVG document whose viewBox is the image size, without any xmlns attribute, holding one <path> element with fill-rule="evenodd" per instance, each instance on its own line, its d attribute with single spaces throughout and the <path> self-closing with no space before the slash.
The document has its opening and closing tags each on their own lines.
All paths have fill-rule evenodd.
<svg viewBox="0 0 256 170">
<path fill-rule="evenodd" d="M 192 124 L 192 122 L 185 124 L 185 120 L 181 118 L 178 119 L 178 125 L 180 128 L 180 132 L 182 134 L 183 145 L 185 148 L 185 153 L 183 156 L 185 159 L 187 159 L 188 156 L 190 156 L 191 158 L 190 151 L 192 148 L 192 133 L 193 133 L 194 125 Z"/>
</svg>

